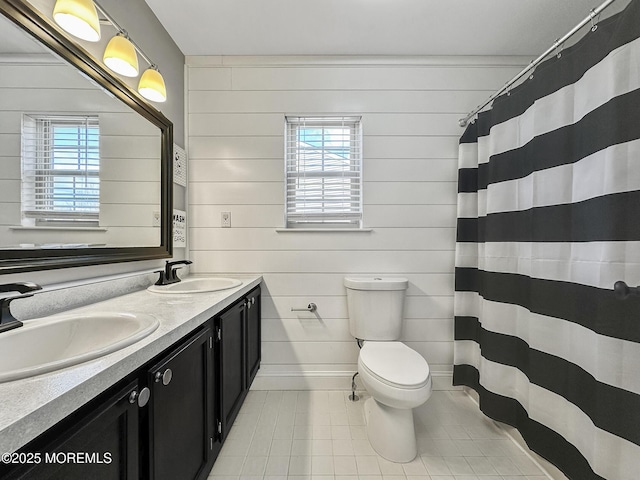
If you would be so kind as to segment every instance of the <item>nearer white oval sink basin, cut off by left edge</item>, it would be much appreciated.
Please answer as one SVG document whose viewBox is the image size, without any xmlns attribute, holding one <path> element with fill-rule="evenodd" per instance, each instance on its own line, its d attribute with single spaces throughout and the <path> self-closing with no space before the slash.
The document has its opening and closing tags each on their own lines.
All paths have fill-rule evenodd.
<svg viewBox="0 0 640 480">
<path fill-rule="evenodd" d="M 0 382 L 93 360 L 131 345 L 158 328 L 146 314 L 87 313 L 23 322 L 0 334 Z"/>
</svg>

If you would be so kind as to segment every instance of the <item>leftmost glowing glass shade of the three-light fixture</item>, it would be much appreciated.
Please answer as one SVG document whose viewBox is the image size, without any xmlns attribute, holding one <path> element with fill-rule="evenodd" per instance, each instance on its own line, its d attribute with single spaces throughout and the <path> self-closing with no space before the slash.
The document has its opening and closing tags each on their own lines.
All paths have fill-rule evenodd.
<svg viewBox="0 0 640 480">
<path fill-rule="evenodd" d="M 74 37 L 88 42 L 100 40 L 100 20 L 92 0 L 57 0 L 53 19 Z"/>
</svg>

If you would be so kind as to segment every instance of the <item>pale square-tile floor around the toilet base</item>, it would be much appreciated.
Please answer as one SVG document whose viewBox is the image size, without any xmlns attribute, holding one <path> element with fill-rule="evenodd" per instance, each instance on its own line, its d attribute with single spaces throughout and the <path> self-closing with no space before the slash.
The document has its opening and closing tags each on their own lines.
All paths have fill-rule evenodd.
<svg viewBox="0 0 640 480">
<path fill-rule="evenodd" d="M 547 480 L 462 391 L 416 409 L 418 457 L 376 454 L 350 392 L 250 391 L 210 480 Z"/>
</svg>

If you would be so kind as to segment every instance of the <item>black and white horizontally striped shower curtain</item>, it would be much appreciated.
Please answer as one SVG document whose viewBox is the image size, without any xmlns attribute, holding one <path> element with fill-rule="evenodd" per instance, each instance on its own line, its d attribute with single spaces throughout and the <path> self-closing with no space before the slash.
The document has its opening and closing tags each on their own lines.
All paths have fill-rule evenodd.
<svg viewBox="0 0 640 480">
<path fill-rule="evenodd" d="M 572 480 L 640 478 L 640 0 L 460 141 L 454 383 Z"/>
</svg>

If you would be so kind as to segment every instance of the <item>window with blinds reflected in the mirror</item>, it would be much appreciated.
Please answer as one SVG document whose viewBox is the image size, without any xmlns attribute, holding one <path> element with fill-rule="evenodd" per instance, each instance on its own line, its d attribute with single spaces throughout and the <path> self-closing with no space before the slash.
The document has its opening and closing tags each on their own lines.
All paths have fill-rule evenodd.
<svg viewBox="0 0 640 480">
<path fill-rule="evenodd" d="M 98 118 L 23 115 L 23 225 L 97 226 L 99 213 Z"/>
</svg>

